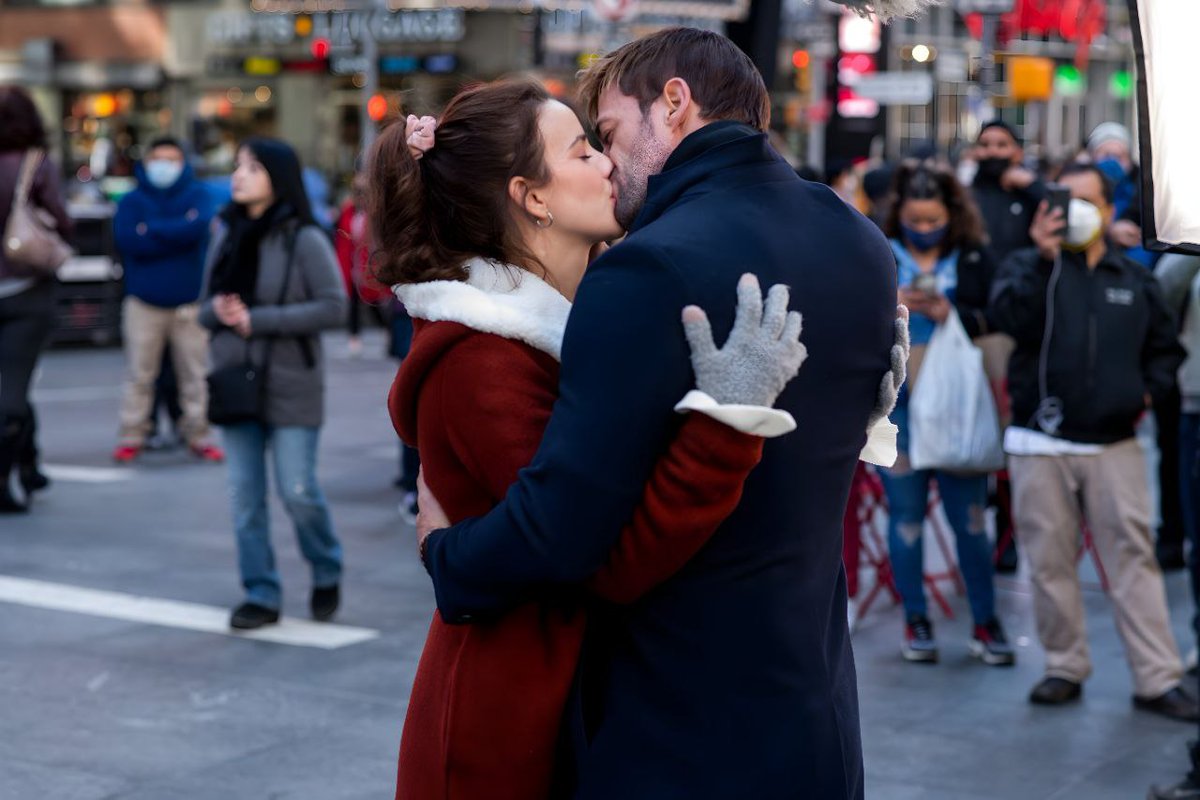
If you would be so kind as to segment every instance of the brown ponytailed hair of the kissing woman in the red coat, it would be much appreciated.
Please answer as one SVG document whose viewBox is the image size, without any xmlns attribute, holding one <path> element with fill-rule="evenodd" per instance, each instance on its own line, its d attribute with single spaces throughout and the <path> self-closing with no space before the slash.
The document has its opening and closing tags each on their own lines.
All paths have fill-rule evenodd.
<svg viewBox="0 0 1200 800">
<path fill-rule="evenodd" d="M 532 82 L 468 86 L 446 106 L 434 145 L 420 160 L 408 150 L 404 120 L 379 136 L 367 162 L 367 212 L 380 282 L 462 281 L 474 257 L 540 271 L 509 181 L 550 180 L 538 128 L 550 98 Z"/>
</svg>

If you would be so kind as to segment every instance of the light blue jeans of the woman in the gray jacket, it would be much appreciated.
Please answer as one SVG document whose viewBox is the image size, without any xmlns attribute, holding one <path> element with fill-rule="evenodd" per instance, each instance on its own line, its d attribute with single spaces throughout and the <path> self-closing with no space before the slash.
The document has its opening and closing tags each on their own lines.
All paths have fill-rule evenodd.
<svg viewBox="0 0 1200 800">
<path fill-rule="evenodd" d="M 222 429 L 229 463 L 233 527 L 238 535 L 238 569 L 246 600 L 266 608 L 281 604 L 280 573 L 271 549 L 266 510 L 266 451 L 275 462 L 275 487 L 296 529 L 300 552 L 312 565 L 314 588 L 336 585 L 342 577 L 342 546 L 325 495 L 317 486 L 317 439 L 320 428 L 270 427 L 258 422 Z"/>
</svg>

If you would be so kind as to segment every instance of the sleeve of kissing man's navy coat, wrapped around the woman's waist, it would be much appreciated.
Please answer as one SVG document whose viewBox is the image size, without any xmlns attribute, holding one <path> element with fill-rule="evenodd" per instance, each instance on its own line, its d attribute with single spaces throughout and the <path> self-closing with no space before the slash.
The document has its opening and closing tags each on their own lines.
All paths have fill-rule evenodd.
<svg viewBox="0 0 1200 800">
<path fill-rule="evenodd" d="M 538 456 L 487 516 L 427 540 L 443 619 L 503 612 L 538 585 L 582 581 L 605 563 L 692 384 L 680 323 L 688 302 L 673 265 L 643 245 L 620 245 L 592 265 Z"/>
</svg>

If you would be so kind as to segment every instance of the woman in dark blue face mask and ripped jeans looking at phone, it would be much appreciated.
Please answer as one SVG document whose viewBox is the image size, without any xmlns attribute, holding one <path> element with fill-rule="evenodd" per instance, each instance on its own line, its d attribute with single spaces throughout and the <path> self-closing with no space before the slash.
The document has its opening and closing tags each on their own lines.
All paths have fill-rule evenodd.
<svg viewBox="0 0 1200 800">
<path fill-rule="evenodd" d="M 983 246 L 979 212 L 958 179 L 944 170 L 904 164 L 893 180 L 893 199 L 883 233 L 896 259 L 900 302 L 911 314 L 913 356 L 910 385 L 920 379 L 914 368 L 937 325 L 956 313 L 972 337 L 988 333 L 988 291 L 994 271 Z M 925 607 L 922 533 L 929 489 L 936 479 L 946 517 L 954 529 L 959 565 L 966 583 L 974 630 L 971 651 L 992 666 L 1015 662 L 1004 628 L 996 618 L 991 545 L 984 527 L 988 476 L 913 470 L 908 462 L 908 387 L 901 390 L 892 422 L 899 427 L 899 457 L 881 469 L 888 497 L 888 552 L 896 589 L 904 601 L 905 660 L 931 663 L 938 657 L 934 626 Z"/>
</svg>

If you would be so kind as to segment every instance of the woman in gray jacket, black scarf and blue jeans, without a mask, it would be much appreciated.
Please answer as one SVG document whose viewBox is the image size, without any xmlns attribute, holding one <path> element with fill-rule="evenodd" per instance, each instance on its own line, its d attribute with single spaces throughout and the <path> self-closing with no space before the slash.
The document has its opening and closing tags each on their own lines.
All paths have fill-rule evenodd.
<svg viewBox="0 0 1200 800">
<path fill-rule="evenodd" d="M 224 425 L 238 564 L 246 601 L 229 625 L 250 630 L 280 619 L 281 587 L 266 510 L 266 453 L 275 483 L 312 565 L 310 608 L 337 610 L 342 547 L 317 485 L 324 420 L 322 330 L 346 317 L 332 246 L 313 221 L 300 161 L 283 142 L 238 149 L 233 203 L 221 213 L 205 266 L 200 324 L 212 331 L 212 371 L 250 361 L 265 380 L 262 419 Z"/>
</svg>

